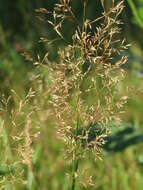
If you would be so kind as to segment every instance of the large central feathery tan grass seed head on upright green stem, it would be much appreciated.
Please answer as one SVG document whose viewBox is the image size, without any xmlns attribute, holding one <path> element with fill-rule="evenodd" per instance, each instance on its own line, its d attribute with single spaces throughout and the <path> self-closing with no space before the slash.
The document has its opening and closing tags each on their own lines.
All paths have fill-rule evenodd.
<svg viewBox="0 0 143 190">
<path fill-rule="evenodd" d="M 106 11 L 101 0 L 103 13 L 95 20 L 86 16 L 87 0 L 83 0 L 83 22 L 77 19 L 72 10 L 72 0 L 60 0 L 51 14 L 48 23 L 63 40 L 62 26 L 65 22 L 74 22 L 76 30 L 71 36 L 72 42 L 58 50 L 58 63 L 51 63 L 44 58 L 49 70 L 49 103 L 58 134 L 72 155 L 72 185 L 79 160 L 92 151 L 100 157 L 108 124 L 120 121 L 123 105 L 127 96 L 121 97 L 119 83 L 124 77 L 122 69 L 127 61 L 121 52 L 128 48 L 125 40 L 120 39 L 118 16 L 122 12 L 123 1 Z M 99 23 L 99 26 L 95 25 Z M 47 55 L 47 54 L 46 54 Z"/>
</svg>

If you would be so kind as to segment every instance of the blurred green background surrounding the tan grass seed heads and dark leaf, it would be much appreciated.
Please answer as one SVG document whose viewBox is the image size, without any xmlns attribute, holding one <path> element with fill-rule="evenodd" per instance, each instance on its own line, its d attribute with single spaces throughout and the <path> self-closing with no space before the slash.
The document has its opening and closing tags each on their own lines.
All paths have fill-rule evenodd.
<svg viewBox="0 0 143 190">
<path fill-rule="evenodd" d="M 38 190 L 66 190 L 68 165 L 63 159 L 63 145 L 55 136 L 55 131 L 50 126 L 46 113 L 44 113 L 46 98 L 42 98 L 42 90 L 39 84 L 32 80 L 33 74 L 42 72 L 47 76 L 46 70 L 35 69 L 32 62 L 37 60 L 37 55 L 44 56 L 46 51 L 50 52 L 50 59 L 56 59 L 57 47 L 40 43 L 40 37 L 52 39 L 56 34 L 50 26 L 37 18 L 36 9 L 44 7 L 52 10 L 54 0 L 0 0 L 0 98 L 11 95 L 14 89 L 18 96 L 23 98 L 32 86 L 39 88 L 37 100 L 43 113 L 43 122 L 40 126 L 41 138 L 35 143 L 33 157 L 34 177 L 25 169 L 25 186 L 20 181 L 11 182 L 11 169 L 14 161 L 18 160 L 11 152 L 13 144 L 10 139 L 11 125 L 7 121 L 0 136 L 0 189 L 38 189 Z M 81 1 L 73 0 L 75 14 L 81 19 Z M 110 1 L 105 0 L 106 7 L 110 7 Z M 128 55 L 127 71 L 123 90 L 126 86 L 132 86 L 131 97 L 126 105 L 126 114 L 123 117 L 125 123 L 129 123 L 137 135 L 143 135 L 143 0 L 125 0 L 125 9 L 121 14 L 124 22 L 121 36 L 127 38 L 131 44 Z M 101 14 L 100 1 L 88 0 L 87 15 L 89 18 L 97 18 Z M 65 26 L 65 38 L 69 39 L 69 26 Z M 74 28 L 71 26 L 71 34 Z M 67 32 L 68 31 L 68 32 Z M 60 44 L 59 46 L 64 46 Z M 33 61 L 26 60 L 21 54 L 28 52 Z M 31 58 L 29 57 L 29 59 Z M 43 77 L 43 83 L 44 83 Z M 42 86 L 43 88 L 43 86 Z M 136 90 L 138 89 L 138 90 Z M 142 91 L 142 92 L 141 92 Z M 124 92 L 123 92 L 124 93 Z M 11 107 L 16 104 L 11 103 Z M 26 108 L 24 108 L 26 109 Z M 25 110 L 24 110 L 25 111 Z M 25 111 L 26 112 L 26 111 Z M 38 122 L 38 115 L 35 123 Z M 3 114 L 0 114 L 2 123 Z M 40 124 L 38 124 L 40 125 Z M 50 127 L 48 127 L 50 126 Z M 124 127 L 124 126 L 123 126 Z M 20 129 L 21 130 L 21 129 Z M 116 129 L 118 131 L 119 129 Z M 126 134 L 125 134 L 126 135 Z M 134 134 L 132 134 L 134 136 Z M 91 163 L 87 161 L 83 167 L 88 168 L 89 174 L 94 174 L 97 190 L 142 190 L 143 189 L 143 141 L 135 141 L 134 146 L 127 145 L 120 151 L 103 152 L 103 161 Z M 132 143 L 131 143 L 132 144 Z M 7 152 L 5 152 L 5 146 Z M 11 153 L 10 153 L 11 152 Z M 6 157 L 4 154 L 7 154 Z M 21 169 L 22 170 L 22 169 Z M 20 172 L 17 169 L 16 172 Z M 14 174 L 13 174 L 14 175 Z M 18 175 L 18 174 L 16 174 Z M 34 178 L 34 180 L 33 180 Z M 95 187 L 79 187 L 79 189 L 95 189 Z"/>
</svg>

